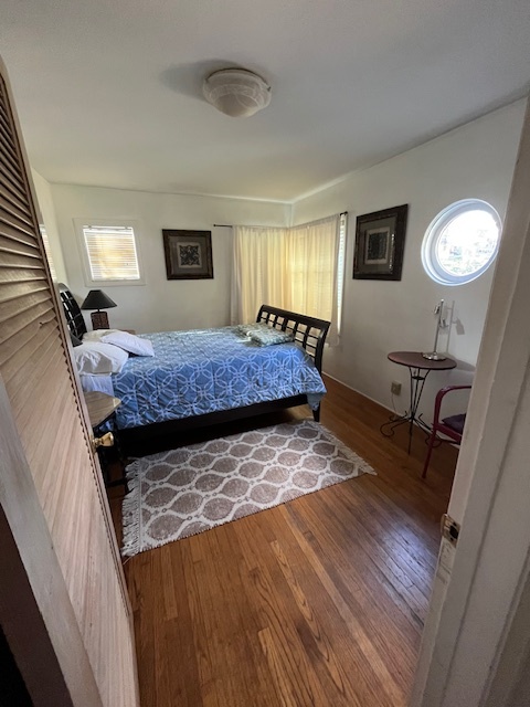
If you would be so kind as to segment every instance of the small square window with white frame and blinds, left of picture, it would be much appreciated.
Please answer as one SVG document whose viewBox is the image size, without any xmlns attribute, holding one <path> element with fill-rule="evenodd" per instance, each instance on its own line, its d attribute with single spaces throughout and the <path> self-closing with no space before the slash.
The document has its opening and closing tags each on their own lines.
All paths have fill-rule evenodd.
<svg viewBox="0 0 530 707">
<path fill-rule="evenodd" d="M 140 258 L 134 224 L 75 220 L 87 285 L 140 285 Z"/>
</svg>

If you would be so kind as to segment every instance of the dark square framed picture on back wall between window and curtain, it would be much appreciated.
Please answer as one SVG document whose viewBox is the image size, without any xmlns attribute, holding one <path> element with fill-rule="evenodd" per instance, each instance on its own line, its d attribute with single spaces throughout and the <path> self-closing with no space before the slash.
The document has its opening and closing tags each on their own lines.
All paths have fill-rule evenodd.
<svg viewBox="0 0 530 707">
<path fill-rule="evenodd" d="M 213 277 L 212 232 L 162 230 L 168 279 Z"/>
</svg>

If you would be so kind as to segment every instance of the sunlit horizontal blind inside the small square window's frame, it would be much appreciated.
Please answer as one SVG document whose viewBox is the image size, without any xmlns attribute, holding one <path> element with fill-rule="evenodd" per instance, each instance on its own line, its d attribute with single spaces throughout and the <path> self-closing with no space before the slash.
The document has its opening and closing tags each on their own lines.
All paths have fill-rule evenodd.
<svg viewBox="0 0 530 707">
<path fill-rule="evenodd" d="M 92 279 L 140 279 L 131 226 L 84 225 L 83 239 Z"/>
</svg>

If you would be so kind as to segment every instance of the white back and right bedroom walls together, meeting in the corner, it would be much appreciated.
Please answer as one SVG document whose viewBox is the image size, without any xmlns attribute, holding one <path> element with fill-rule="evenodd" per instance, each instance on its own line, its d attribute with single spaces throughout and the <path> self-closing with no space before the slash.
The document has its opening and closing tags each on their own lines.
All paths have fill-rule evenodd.
<svg viewBox="0 0 530 707">
<path fill-rule="evenodd" d="M 293 207 L 252 200 L 157 194 L 119 189 L 53 184 L 66 264 L 66 282 L 83 298 L 88 287 L 82 272 L 73 219 L 136 219 L 146 268 L 145 286 L 106 287 L 118 304 L 110 325 L 137 331 L 222 326 L 229 323 L 232 231 L 213 223 L 286 225 L 349 212 L 347 273 L 341 345 L 328 348 L 325 370 L 351 388 L 391 407 L 390 383 L 403 383 L 395 398 L 407 404 L 407 370 L 386 359 L 389 351 L 427 350 L 433 346 L 433 308 L 454 303 L 448 336 L 441 336 L 458 360 L 452 372 L 432 373 L 422 409 L 431 419 L 434 392 L 445 384 L 470 382 L 477 359 L 494 270 L 474 283 L 445 287 L 431 281 L 421 262 L 421 244 L 432 219 L 459 199 L 476 197 L 505 214 L 524 102 L 496 110 L 441 138 L 370 169 L 356 172 Z M 356 215 L 409 203 L 401 282 L 352 279 Z M 211 230 L 214 279 L 168 281 L 161 230 Z M 455 403 L 455 410 L 465 404 Z"/>
</svg>

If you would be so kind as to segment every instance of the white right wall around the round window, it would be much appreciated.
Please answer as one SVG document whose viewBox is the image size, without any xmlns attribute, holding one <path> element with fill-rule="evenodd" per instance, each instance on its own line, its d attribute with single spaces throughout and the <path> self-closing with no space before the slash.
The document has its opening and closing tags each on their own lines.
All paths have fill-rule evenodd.
<svg viewBox="0 0 530 707">
<path fill-rule="evenodd" d="M 423 270 L 422 240 L 434 217 L 459 199 L 484 199 L 504 218 L 523 113 L 524 102 L 517 102 L 296 202 L 294 223 L 349 212 L 343 334 L 341 345 L 325 356 L 331 376 L 388 407 L 391 381 L 399 380 L 403 393 L 395 403 L 402 411 L 407 404 L 409 372 L 386 355 L 432 350 L 433 309 L 444 298 L 455 303 L 459 324 L 451 327 L 448 337 L 441 336 L 438 350 L 447 346 L 458 369 L 431 373 L 422 401 L 427 419 L 436 390 L 470 382 L 494 268 L 467 285 L 438 285 Z M 352 279 L 356 215 L 403 203 L 409 204 L 409 223 L 402 279 Z"/>
</svg>

